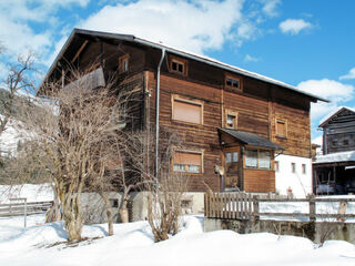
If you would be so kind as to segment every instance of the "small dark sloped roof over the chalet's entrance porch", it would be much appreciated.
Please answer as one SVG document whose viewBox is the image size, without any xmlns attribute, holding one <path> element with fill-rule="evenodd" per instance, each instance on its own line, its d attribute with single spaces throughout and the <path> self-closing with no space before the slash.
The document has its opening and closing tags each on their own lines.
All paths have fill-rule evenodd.
<svg viewBox="0 0 355 266">
<path fill-rule="evenodd" d="M 242 142 L 243 144 L 252 145 L 252 146 L 258 146 L 258 147 L 267 147 L 272 150 L 277 151 L 284 151 L 285 149 L 281 145 L 273 143 L 268 141 L 265 137 L 262 137 L 260 135 L 256 135 L 254 133 L 245 132 L 245 131 L 237 131 L 232 129 L 219 129 L 221 132 L 224 132 L 234 139 L 236 139 L 239 142 Z"/>
</svg>

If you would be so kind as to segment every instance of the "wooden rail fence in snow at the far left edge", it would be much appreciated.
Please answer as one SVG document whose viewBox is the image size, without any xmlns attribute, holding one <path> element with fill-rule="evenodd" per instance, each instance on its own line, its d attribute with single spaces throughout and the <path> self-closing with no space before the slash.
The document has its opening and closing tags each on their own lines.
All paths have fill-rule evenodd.
<svg viewBox="0 0 355 266">
<path fill-rule="evenodd" d="M 24 213 L 27 215 L 42 214 L 45 213 L 51 206 L 53 206 L 53 202 L 21 202 L 0 204 L 0 217 L 20 216 L 24 215 Z"/>
</svg>

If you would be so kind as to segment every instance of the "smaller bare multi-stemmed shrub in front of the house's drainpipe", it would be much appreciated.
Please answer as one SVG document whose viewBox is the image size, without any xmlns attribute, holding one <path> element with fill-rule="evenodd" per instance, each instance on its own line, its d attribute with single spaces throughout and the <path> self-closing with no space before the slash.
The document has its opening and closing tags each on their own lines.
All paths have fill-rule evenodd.
<svg viewBox="0 0 355 266">
<path fill-rule="evenodd" d="M 159 176 L 149 158 L 154 158 L 154 143 L 150 132 L 144 131 L 136 136 L 135 142 L 141 151 L 140 156 L 134 156 L 135 167 L 141 171 L 144 188 L 148 190 L 148 221 L 152 228 L 155 242 L 165 241 L 169 234 L 176 234 L 179 229 L 179 218 L 182 213 L 181 201 L 189 188 L 189 174 L 174 172 L 172 167 L 172 156 L 175 150 L 183 147 L 183 136 L 168 129 L 161 129 L 161 137 L 164 144 L 160 147 Z M 133 141 L 131 143 L 134 143 Z M 134 151 L 134 149 L 130 149 Z M 151 160 L 154 161 L 154 160 Z"/>
</svg>

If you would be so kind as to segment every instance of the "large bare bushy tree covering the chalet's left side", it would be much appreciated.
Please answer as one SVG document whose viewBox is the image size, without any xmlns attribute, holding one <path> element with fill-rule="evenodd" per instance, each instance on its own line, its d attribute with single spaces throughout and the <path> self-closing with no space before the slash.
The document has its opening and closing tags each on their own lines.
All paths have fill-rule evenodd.
<svg viewBox="0 0 355 266">
<path fill-rule="evenodd" d="M 78 72 L 72 72 L 71 81 L 64 88 L 61 83 L 44 84 L 42 91 L 50 95 L 36 102 L 41 112 L 27 112 L 22 119 L 31 132 L 29 137 L 37 143 L 39 162 L 54 183 L 70 242 L 81 238 L 81 193 L 90 182 L 100 195 L 110 187 L 105 173 L 112 154 L 103 151 L 110 150 L 112 136 L 120 131 L 114 119 L 120 100 L 115 83 L 91 89 L 90 80 Z M 104 202 L 109 206 L 106 198 Z"/>
</svg>

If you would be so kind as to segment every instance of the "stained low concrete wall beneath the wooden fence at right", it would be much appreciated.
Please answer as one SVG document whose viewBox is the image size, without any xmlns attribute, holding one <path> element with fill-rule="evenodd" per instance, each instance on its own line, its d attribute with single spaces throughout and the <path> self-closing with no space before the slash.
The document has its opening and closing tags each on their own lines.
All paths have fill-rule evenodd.
<svg viewBox="0 0 355 266">
<path fill-rule="evenodd" d="M 267 232 L 276 235 L 307 237 L 314 243 L 328 239 L 346 241 L 355 244 L 354 223 L 291 222 L 291 221 L 237 221 L 205 218 L 204 231 L 232 229 L 240 234 Z"/>
</svg>

